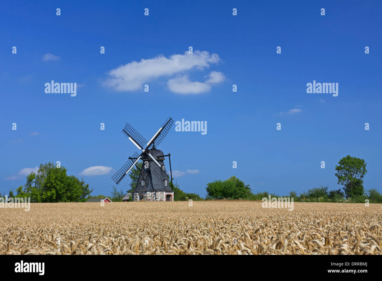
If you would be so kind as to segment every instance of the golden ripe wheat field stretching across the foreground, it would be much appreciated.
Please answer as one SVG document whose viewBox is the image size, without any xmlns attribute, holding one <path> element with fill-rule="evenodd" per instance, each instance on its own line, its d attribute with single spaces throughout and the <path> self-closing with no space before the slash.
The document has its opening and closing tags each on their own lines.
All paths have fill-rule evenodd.
<svg viewBox="0 0 382 281">
<path fill-rule="evenodd" d="M 31 203 L 0 208 L 0 254 L 382 253 L 382 205 L 254 201 Z"/>
</svg>

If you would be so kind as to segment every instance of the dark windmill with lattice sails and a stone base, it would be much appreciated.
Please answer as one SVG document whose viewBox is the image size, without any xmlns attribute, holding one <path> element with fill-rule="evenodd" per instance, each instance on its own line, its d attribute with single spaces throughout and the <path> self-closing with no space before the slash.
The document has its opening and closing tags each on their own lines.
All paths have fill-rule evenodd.
<svg viewBox="0 0 382 281">
<path fill-rule="evenodd" d="M 164 160 L 168 156 L 170 161 L 170 153 L 163 155 L 163 152 L 155 148 L 165 138 L 173 124 L 173 120 L 168 119 L 163 123 L 151 140 L 147 141 L 133 127 L 126 123 L 122 130 L 129 140 L 139 149 L 141 153 L 135 152 L 129 157 L 129 161 L 113 175 L 112 179 L 119 184 L 120 181 L 127 175 L 130 170 L 142 160 L 143 164 L 140 169 L 140 174 L 135 190 L 131 193 L 133 201 L 173 201 L 174 191 L 168 183 L 168 173 L 166 172 Z M 138 166 L 137 166 L 138 167 Z M 139 169 L 139 168 L 138 168 Z M 171 162 L 170 162 L 170 175 Z M 172 180 L 172 177 L 170 178 Z"/>
</svg>

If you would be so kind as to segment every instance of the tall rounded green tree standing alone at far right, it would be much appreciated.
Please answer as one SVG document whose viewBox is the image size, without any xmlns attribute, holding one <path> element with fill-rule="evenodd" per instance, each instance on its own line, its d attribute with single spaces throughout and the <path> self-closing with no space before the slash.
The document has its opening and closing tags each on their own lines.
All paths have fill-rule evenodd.
<svg viewBox="0 0 382 281">
<path fill-rule="evenodd" d="M 362 196 L 364 193 L 363 177 L 367 173 L 364 159 L 351 157 L 342 158 L 335 166 L 337 184 L 344 185 L 346 197 Z"/>
</svg>

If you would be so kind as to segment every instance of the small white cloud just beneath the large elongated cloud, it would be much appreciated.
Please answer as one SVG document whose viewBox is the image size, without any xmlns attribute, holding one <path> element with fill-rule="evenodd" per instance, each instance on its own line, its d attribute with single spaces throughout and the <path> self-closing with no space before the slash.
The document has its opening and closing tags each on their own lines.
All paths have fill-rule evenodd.
<svg viewBox="0 0 382 281">
<path fill-rule="evenodd" d="M 167 82 L 170 91 L 178 94 L 200 94 L 211 90 L 211 86 L 203 82 L 192 82 L 188 76 L 170 79 Z"/>
</svg>

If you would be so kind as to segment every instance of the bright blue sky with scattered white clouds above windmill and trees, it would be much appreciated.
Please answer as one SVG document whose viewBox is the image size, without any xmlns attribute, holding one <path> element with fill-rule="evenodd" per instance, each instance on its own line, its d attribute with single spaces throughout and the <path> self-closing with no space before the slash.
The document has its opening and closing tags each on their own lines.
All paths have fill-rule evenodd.
<svg viewBox="0 0 382 281">
<path fill-rule="evenodd" d="M 338 189 L 348 154 L 367 163 L 365 189 L 381 191 L 381 13 L 380 1 L 3 2 L 0 190 L 60 161 L 109 195 L 137 150 L 126 122 L 149 140 L 170 116 L 207 122 L 206 135 L 174 124 L 158 147 L 185 192 L 232 175 L 253 192 Z M 77 83 L 76 96 L 45 93 L 51 80 Z M 338 83 L 338 96 L 308 94 L 313 80 Z M 81 174 L 94 166 L 107 174 Z"/>
</svg>

